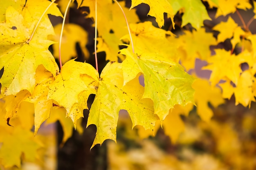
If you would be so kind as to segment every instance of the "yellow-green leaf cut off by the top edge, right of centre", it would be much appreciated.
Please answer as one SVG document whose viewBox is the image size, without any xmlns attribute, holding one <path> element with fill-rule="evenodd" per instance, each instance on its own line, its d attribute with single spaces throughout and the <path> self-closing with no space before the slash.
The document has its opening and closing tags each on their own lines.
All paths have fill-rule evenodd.
<svg viewBox="0 0 256 170">
<path fill-rule="evenodd" d="M 190 23 L 195 29 L 199 29 L 204 25 L 204 20 L 211 20 L 201 0 L 168 0 L 168 2 L 173 7 L 174 13 L 180 9 L 184 12 L 181 26 Z"/>
</svg>

